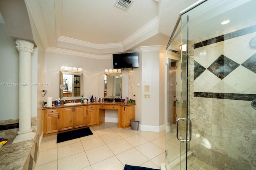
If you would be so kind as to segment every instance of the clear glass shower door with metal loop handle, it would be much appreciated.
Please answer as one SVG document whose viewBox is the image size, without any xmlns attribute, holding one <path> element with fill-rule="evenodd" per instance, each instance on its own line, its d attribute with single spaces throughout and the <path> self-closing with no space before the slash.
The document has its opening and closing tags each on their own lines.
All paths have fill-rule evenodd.
<svg viewBox="0 0 256 170">
<path fill-rule="evenodd" d="M 172 36 L 166 50 L 167 170 L 186 169 L 191 139 L 191 122 L 188 119 L 188 17 L 179 20 L 180 28 Z"/>
</svg>

